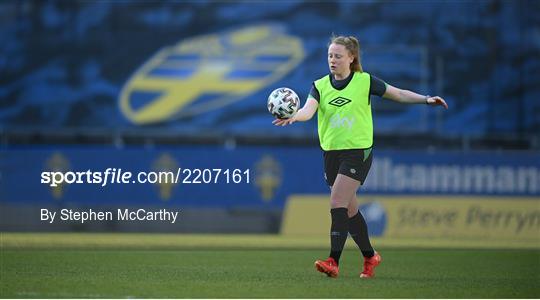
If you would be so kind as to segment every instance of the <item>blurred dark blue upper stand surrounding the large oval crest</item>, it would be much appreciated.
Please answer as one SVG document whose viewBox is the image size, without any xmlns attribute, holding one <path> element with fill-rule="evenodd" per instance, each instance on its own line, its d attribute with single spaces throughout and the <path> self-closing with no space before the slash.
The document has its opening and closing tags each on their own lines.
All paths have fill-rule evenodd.
<svg viewBox="0 0 540 300">
<path fill-rule="evenodd" d="M 538 149 L 540 44 L 539 17 L 533 13 L 538 6 L 536 1 L 297 1 L 269 7 L 211 1 L 2 2 L 2 143 L 222 143 L 224 137 L 240 143 L 315 143 L 315 122 L 273 128 L 265 99 L 277 86 L 292 87 L 305 99 L 311 82 L 327 72 L 326 45 L 338 33 L 359 37 L 368 72 L 398 87 L 443 95 L 450 104 L 442 112 L 374 99 L 380 146 L 392 147 L 391 141 L 406 135 L 400 147 Z M 280 37 L 298 41 L 299 48 L 265 50 Z M 197 46 L 205 39 L 213 44 Z M 175 45 L 191 51 L 177 49 L 183 56 L 169 57 L 165 71 L 141 72 L 160 50 Z M 230 61 L 236 64 L 216 71 Z M 292 65 L 284 71 L 283 63 Z M 205 67 L 215 72 L 205 73 Z M 141 75 L 159 88 L 130 83 Z M 159 85 L 167 80 L 176 87 Z M 218 87 L 220 81 L 229 87 Z M 189 94 L 182 90 L 186 83 L 202 87 Z M 179 97 L 163 95 L 174 88 Z M 170 114 L 146 121 L 133 117 L 160 100 Z M 131 115 L 119 109 L 123 101 Z"/>
</svg>

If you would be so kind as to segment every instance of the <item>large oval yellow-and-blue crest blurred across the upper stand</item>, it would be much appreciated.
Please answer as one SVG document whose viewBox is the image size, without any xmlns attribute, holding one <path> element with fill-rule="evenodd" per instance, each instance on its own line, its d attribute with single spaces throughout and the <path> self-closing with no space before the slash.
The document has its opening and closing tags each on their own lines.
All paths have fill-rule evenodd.
<svg viewBox="0 0 540 300">
<path fill-rule="evenodd" d="M 119 107 L 135 124 L 194 116 L 246 99 L 303 58 L 301 40 L 274 24 L 190 38 L 144 63 L 123 87 Z"/>
</svg>

